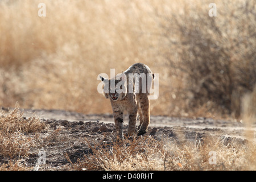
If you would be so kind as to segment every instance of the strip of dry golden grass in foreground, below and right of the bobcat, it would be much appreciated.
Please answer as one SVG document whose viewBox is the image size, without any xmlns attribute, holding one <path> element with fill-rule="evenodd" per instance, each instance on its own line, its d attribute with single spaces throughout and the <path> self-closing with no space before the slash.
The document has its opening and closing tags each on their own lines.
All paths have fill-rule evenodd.
<svg viewBox="0 0 256 182">
<path fill-rule="evenodd" d="M 86 139 L 85 139 L 86 140 Z M 208 137 L 204 140 L 158 141 L 151 137 L 86 144 L 93 154 L 72 164 L 75 170 L 255 170 L 255 144 L 236 139 Z M 216 152 L 212 164 L 211 151 Z M 210 161 L 210 162 L 209 162 Z"/>
</svg>

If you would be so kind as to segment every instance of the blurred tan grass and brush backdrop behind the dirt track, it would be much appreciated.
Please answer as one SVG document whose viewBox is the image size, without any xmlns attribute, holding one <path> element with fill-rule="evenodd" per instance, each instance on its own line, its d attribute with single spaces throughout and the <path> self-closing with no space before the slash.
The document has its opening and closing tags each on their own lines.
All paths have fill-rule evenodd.
<svg viewBox="0 0 256 182">
<path fill-rule="evenodd" d="M 239 118 L 256 97 L 255 0 L 216 17 L 201 0 L 41 2 L 0 0 L 0 106 L 112 113 L 97 76 L 137 62 L 159 73 L 153 115 Z"/>
</svg>

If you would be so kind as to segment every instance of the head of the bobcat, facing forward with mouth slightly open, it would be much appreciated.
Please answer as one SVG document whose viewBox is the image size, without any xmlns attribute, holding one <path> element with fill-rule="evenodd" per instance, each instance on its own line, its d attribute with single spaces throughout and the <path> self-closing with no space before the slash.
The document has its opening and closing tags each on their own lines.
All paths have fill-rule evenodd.
<svg viewBox="0 0 256 182">
<path fill-rule="evenodd" d="M 122 73 L 115 78 L 107 79 L 101 77 L 104 82 L 104 95 L 112 101 L 121 101 L 126 96 L 126 75 Z"/>
</svg>

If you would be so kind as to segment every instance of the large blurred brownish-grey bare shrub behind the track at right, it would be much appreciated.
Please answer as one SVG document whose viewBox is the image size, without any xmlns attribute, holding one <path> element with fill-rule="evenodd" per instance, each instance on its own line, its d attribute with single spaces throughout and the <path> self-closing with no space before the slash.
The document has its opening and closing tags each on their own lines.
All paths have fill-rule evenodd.
<svg viewBox="0 0 256 182">
<path fill-rule="evenodd" d="M 171 76 L 179 75 L 183 82 L 182 88 L 172 89 L 178 89 L 187 113 L 233 112 L 238 117 L 242 94 L 256 83 L 255 6 L 251 0 L 215 3 L 222 7 L 216 17 L 208 15 L 206 2 L 184 3 L 180 13 L 156 10 L 162 56 Z M 201 107 L 204 111 L 198 113 Z"/>
</svg>

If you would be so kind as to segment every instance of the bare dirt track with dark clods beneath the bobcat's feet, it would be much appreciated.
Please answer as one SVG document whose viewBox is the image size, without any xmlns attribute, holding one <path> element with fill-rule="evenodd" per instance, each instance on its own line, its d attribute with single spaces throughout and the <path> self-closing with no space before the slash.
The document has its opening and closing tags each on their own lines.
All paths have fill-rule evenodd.
<svg viewBox="0 0 256 182">
<path fill-rule="evenodd" d="M 24 110 L 24 117 L 36 113 L 47 130 L 39 138 L 51 138 L 44 148 L 34 148 L 28 156 L 28 165 L 39 170 L 66 170 L 71 163 L 82 159 L 92 150 L 84 142 L 103 140 L 112 142 L 114 138 L 114 119 L 112 114 L 80 114 L 63 110 Z M 127 131 L 127 115 L 124 118 L 124 133 Z M 138 124 L 138 123 L 137 123 Z M 254 140 L 256 123 L 253 125 Z M 183 137 L 180 137 L 182 134 Z M 174 118 L 151 116 L 146 135 L 155 139 L 198 140 L 206 136 L 220 136 L 226 140 L 245 142 L 245 126 L 241 122 L 214 120 L 211 118 Z M 46 164 L 38 166 L 39 153 L 45 154 Z M 67 159 L 68 156 L 68 159 Z"/>
</svg>

